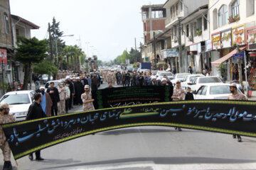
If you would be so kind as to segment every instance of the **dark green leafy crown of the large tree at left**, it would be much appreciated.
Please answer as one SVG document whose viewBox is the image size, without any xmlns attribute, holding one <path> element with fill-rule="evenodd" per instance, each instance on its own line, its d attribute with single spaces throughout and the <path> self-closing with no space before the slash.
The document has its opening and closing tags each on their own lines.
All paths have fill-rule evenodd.
<svg viewBox="0 0 256 170">
<path fill-rule="evenodd" d="M 24 38 L 18 36 L 18 47 L 16 50 L 15 60 L 22 63 L 41 62 L 47 57 L 48 45 L 46 40 L 38 40 L 37 38 Z"/>
</svg>

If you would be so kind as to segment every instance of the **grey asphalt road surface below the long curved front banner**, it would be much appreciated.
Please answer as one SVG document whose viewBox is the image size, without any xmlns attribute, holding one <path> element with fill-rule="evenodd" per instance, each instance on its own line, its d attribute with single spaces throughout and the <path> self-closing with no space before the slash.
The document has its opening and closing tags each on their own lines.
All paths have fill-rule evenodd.
<svg viewBox="0 0 256 170">
<path fill-rule="evenodd" d="M 82 106 L 72 111 L 82 111 Z M 232 135 L 215 132 L 140 127 L 48 147 L 41 151 L 43 162 L 28 157 L 18 159 L 18 166 L 13 157 L 11 162 L 14 169 L 256 169 L 255 147 L 252 137 L 237 142 Z"/>
</svg>

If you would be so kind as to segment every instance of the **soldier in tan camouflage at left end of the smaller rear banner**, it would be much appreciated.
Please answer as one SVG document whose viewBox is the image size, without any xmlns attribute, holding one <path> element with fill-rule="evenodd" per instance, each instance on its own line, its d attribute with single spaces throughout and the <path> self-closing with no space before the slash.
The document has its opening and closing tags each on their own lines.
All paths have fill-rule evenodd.
<svg viewBox="0 0 256 170">
<path fill-rule="evenodd" d="M 92 94 L 90 93 L 90 86 L 85 85 L 85 93 L 81 96 L 82 103 L 83 103 L 83 111 L 94 111 L 95 108 L 93 106 Z"/>
</svg>

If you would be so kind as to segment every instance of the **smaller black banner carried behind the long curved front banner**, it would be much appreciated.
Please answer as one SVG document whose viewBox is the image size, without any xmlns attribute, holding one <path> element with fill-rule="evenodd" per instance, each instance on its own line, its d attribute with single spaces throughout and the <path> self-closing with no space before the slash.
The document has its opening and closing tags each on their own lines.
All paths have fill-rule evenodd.
<svg viewBox="0 0 256 170">
<path fill-rule="evenodd" d="M 133 106 L 146 103 L 171 101 L 173 86 L 129 86 L 111 89 L 100 89 L 92 98 L 95 109 Z"/>
</svg>

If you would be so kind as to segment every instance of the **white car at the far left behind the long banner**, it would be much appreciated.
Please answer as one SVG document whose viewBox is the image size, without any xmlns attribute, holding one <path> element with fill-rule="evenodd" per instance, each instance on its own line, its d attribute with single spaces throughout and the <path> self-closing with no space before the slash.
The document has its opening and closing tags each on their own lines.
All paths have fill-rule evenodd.
<svg viewBox="0 0 256 170">
<path fill-rule="evenodd" d="M 16 121 L 25 120 L 28 108 L 33 103 L 35 91 L 11 91 L 1 97 L 0 103 L 8 103 L 10 113 L 14 114 Z"/>
</svg>

